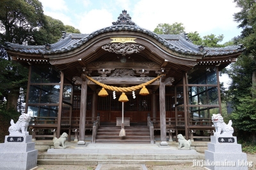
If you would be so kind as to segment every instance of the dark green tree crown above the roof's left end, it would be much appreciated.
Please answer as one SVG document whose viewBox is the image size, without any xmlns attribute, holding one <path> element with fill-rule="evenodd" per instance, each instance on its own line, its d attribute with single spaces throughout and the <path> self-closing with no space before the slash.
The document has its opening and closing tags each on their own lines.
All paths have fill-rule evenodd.
<svg viewBox="0 0 256 170">
<path fill-rule="evenodd" d="M 1 43 L 26 43 L 33 31 L 44 26 L 42 4 L 38 0 L 4 0 L 0 5 Z"/>
</svg>

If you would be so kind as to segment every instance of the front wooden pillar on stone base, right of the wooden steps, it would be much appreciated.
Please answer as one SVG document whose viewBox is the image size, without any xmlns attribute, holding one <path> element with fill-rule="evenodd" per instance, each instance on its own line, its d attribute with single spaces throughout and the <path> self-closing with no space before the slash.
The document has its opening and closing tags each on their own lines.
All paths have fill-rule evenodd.
<svg viewBox="0 0 256 170">
<path fill-rule="evenodd" d="M 166 142 L 166 111 L 165 111 L 165 84 L 160 81 L 159 86 L 159 106 L 160 106 L 160 128 L 161 128 L 161 145 L 167 146 Z"/>
</svg>

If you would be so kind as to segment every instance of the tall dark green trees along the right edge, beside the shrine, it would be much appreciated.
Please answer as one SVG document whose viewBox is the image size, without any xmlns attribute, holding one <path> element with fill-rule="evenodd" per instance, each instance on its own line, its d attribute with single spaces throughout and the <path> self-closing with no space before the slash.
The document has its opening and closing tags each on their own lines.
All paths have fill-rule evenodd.
<svg viewBox="0 0 256 170">
<path fill-rule="evenodd" d="M 228 93 L 234 107 L 231 118 L 239 134 L 256 141 L 256 3 L 253 0 L 234 2 L 241 8 L 234 14 L 234 20 L 243 31 L 233 40 L 235 44 L 243 43 L 246 49 L 228 70 L 232 79 Z"/>
</svg>

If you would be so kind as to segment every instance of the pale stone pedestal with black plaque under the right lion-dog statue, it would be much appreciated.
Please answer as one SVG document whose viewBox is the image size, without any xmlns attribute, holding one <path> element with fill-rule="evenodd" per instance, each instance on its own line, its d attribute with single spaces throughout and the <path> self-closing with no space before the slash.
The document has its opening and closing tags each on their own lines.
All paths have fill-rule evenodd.
<svg viewBox="0 0 256 170">
<path fill-rule="evenodd" d="M 236 136 L 211 135 L 211 143 L 205 150 L 205 167 L 207 169 L 248 169 L 246 153 L 241 144 L 237 144 Z"/>
</svg>

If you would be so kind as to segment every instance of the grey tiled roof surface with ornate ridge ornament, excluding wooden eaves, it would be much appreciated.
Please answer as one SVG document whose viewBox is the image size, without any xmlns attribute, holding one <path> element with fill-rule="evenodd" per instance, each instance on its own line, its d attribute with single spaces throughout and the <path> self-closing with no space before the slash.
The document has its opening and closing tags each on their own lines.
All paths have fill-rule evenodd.
<svg viewBox="0 0 256 170">
<path fill-rule="evenodd" d="M 124 24 L 122 24 L 124 23 Z M 73 49 L 77 49 L 88 40 L 94 38 L 97 35 L 108 33 L 108 32 L 118 32 L 118 31 L 133 31 L 144 33 L 145 35 L 152 36 L 159 43 L 164 45 L 170 50 L 178 52 L 180 54 L 193 54 L 200 56 L 222 56 L 227 54 L 232 54 L 242 51 L 243 45 L 234 45 L 224 48 L 209 48 L 209 47 L 200 47 L 191 43 L 188 40 L 186 34 L 182 35 L 157 35 L 156 33 L 137 26 L 132 22 L 129 14 L 124 10 L 118 20 L 113 22 L 113 26 L 105 27 L 93 31 L 90 34 L 63 34 L 63 37 L 60 41 L 53 43 L 49 49 L 46 48 L 47 45 L 17 45 L 13 43 L 5 43 L 5 48 L 17 52 L 24 52 L 30 54 L 56 54 L 61 52 L 67 52 Z"/>
</svg>

